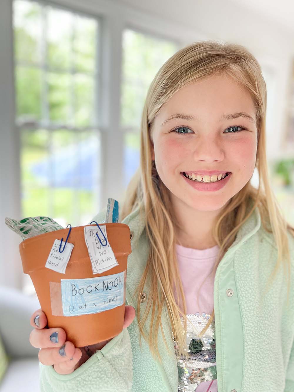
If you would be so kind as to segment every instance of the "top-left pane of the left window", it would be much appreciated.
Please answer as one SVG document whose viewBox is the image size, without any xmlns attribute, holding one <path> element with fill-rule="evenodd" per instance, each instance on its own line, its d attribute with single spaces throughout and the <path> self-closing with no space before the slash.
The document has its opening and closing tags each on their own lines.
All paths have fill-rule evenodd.
<svg viewBox="0 0 294 392">
<path fill-rule="evenodd" d="M 38 3 L 16 0 L 13 7 L 15 59 L 41 62 L 41 7 Z"/>
</svg>

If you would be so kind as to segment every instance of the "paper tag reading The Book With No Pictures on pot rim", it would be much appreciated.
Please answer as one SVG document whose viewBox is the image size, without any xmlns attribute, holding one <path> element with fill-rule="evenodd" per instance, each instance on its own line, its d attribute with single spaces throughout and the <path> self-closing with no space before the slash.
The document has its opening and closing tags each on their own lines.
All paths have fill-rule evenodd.
<svg viewBox="0 0 294 392">
<path fill-rule="evenodd" d="M 99 227 L 101 228 L 107 240 L 106 246 L 103 246 L 106 242 Z M 84 228 L 85 243 L 87 245 L 91 259 L 93 274 L 101 274 L 102 272 L 105 272 L 118 265 L 116 257 L 114 256 L 113 250 L 111 249 L 107 238 L 106 226 L 99 225 L 99 227 L 85 226 Z M 96 236 L 96 233 L 98 234 L 103 245 L 101 245 L 99 238 Z"/>
</svg>

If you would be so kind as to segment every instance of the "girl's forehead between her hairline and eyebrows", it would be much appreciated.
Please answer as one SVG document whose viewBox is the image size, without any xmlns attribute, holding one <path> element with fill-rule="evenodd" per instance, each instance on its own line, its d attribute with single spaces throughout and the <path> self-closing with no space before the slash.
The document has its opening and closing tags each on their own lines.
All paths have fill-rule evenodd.
<svg viewBox="0 0 294 392">
<path fill-rule="evenodd" d="M 191 114 L 201 120 L 219 120 L 223 114 L 243 111 L 255 118 L 249 92 L 226 76 L 211 76 L 178 90 L 160 109 L 154 124 L 160 125 L 171 114 Z"/>
</svg>

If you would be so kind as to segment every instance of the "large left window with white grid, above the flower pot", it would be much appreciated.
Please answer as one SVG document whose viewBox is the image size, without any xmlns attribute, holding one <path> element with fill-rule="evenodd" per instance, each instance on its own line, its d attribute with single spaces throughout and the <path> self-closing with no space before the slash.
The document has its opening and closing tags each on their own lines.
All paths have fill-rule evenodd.
<svg viewBox="0 0 294 392">
<path fill-rule="evenodd" d="M 22 216 L 87 224 L 100 209 L 98 20 L 15 0 L 13 26 Z"/>
</svg>

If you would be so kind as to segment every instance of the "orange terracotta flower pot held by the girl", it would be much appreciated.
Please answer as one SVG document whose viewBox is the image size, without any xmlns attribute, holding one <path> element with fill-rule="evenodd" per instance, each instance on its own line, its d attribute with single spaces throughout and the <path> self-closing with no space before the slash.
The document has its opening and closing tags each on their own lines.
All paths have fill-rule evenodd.
<svg viewBox="0 0 294 392">
<path fill-rule="evenodd" d="M 64 238 L 62 249 L 69 229 L 40 234 L 22 241 L 19 245 L 24 273 L 29 274 L 33 281 L 41 309 L 47 316 L 48 327 L 63 328 L 67 340 L 76 347 L 84 347 L 111 339 L 120 334 L 123 329 L 127 256 L 132 251 L 130 229 L 124 223 L 100 224 L 100 226 L 104 225 L 109 245 L 118 265 L 101 274 L 93 273 L 85 243 L 85 226 L 71 229 L 67 242 L 72 243 L 74 247 L 65 274 L 51 270 L 45 267 L 45 264 L 54 240 Z M 86 226 L 97 227 L 95 224 Z M 112 276 L 112 278 L 109 279 L 107 276 Z M 86 278 L 92 279 L 88 279 L 82 284 L 82 279 Z M 97 283 L 98 281 L 99 283 Z M 87 286 L 85 282 L 87 282 Z M 65 283 L 67 289 L 65 289 Z M 68 288 L 70 289 L 68 290 Z M 118 292 L 118 290 L 120 291 Z M 119 295 L 113 295 L 115 293 Z M 123 303 L 118 306 L 118 302 L 115 303 L 115 297 L 120 298 L 120 303 Z M 77 306 L 78 301 L 82 303 L 82 306 Z M 83 302 L 85 302 L 85 307 Z M 72 305 L 67 306 L 69 303 Z M 107 305 L 103 305 L 103 303 Z M 103 306 L 113 308 L 103 310 L 105 309 Z M 90 313 L 81 314 L 84 311 Z M 77 313 L 78 315 L 75 315 Z"/>
</svg>

